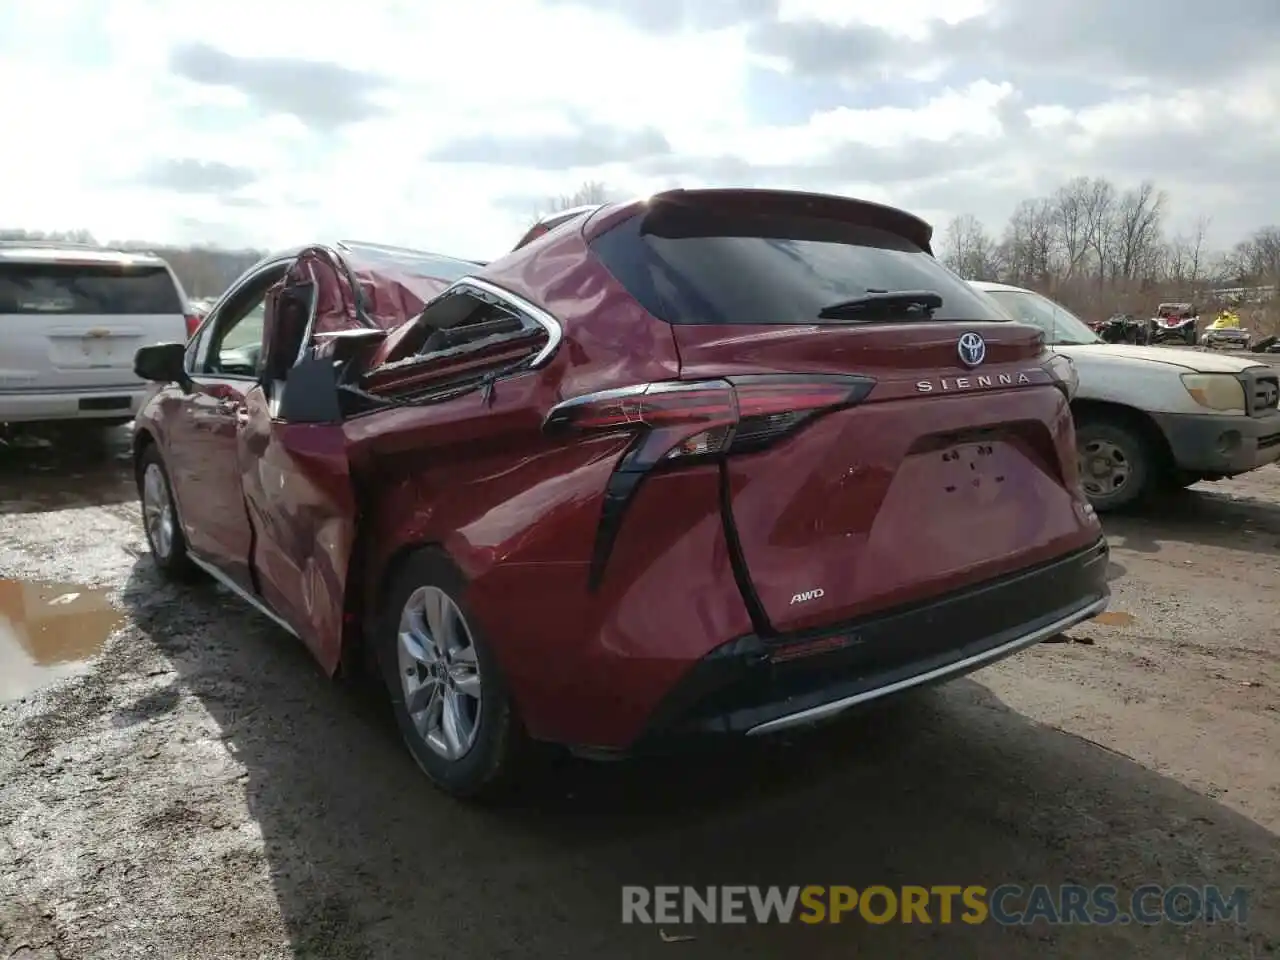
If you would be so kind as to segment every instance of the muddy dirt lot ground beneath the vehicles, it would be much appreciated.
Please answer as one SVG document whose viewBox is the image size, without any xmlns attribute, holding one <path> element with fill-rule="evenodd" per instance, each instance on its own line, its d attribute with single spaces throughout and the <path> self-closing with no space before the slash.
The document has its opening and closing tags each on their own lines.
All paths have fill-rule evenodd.
<svg viewBox="0 0 1280 960">
<path fill-rule="evenodd" d="M 0 449 L 0 609 L 35 650 L 0 652 L 0 957 L 1280 954 L 1280 470 L 1110 521 L 1114 613 L 1076 643 L 476 810 L 298 644 L 163 585 L 115 454 Z M 620 924 L 625 883 L 1005 882 L 1253 893 L 1244 927 Z"/>
</svg>

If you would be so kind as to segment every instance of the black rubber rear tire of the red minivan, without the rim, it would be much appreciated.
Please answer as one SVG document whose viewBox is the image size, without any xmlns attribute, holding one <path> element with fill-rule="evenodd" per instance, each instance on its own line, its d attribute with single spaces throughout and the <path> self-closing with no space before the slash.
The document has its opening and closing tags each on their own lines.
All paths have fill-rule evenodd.
<svg viewBox="0 0 1280 960">
<path fill-rule="evenodd" d="M 466 753 L 456 759 L 442 755 L 428 744 L 410 716 L 401 681 L 401 614 L 422 588 L 434 588 L 452 600 L 465 621 L 461 628 L 468 635 L 479 666 L 481 695 L 474 721 L 475 739 Z M 525 772 L 532 751 L 494 657 L 493 644 L 480 630 L 465 594 L 466 580 L 445 554 L 434 549 L 412 554 L 399 566 L 387 591 L 378 622 L 375 650 L 404 746 L 428 780 L 454 797 L 493 800 L 507 794 Z"/>
</svg>

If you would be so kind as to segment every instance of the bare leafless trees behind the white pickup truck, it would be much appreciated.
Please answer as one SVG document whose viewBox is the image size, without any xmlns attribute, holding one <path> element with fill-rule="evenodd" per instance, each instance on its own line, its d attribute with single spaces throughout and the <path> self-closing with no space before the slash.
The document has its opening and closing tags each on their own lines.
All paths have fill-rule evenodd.
<svg viewBox="0 0 1280 960">
<path fill-rule="evenodd" d="M 952 218 L 938 255 L 966 279 L 1030 287 L 1089 320 L 1143 315 L 1160 301 L 1189 301 L 1203 311 L 1235 291 L 1254 321 L 1275 324 L 1280 227 L 1215 250 L 1210 214 L 1170 233 L 1167 207 L 1169 195 L 1151 180 L 1121 188 L 1076 177 L 1019 202 L 998 234 L 972 214 Z"/>
</svg>

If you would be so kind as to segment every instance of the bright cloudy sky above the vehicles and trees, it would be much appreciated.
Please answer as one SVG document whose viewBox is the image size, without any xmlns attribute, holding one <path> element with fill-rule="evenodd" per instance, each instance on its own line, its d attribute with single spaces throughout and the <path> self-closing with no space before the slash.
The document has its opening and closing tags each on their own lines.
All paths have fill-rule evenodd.
<svg viewBox="0 0 1280 960">
<path fill-rule="evenodd" d="M 104 239 L 489 257 L 585 179 L 1280 221 L 1277 0 L 13 1 L 0 90 L 0 227 Z"/>
</svg>

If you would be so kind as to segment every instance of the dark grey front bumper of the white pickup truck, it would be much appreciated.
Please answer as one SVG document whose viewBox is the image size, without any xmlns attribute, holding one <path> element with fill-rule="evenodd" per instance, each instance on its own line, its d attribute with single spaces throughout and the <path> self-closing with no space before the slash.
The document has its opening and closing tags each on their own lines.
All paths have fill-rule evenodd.
<svg viewBox="0 0 1280 960">
<path fill-rule="evenodd" d="M 1280 413 L 1152 413 L 1165 433 L 1174 462 L 1196 474 L 1234 476 L 1280 457 Z"/>
</svg>

